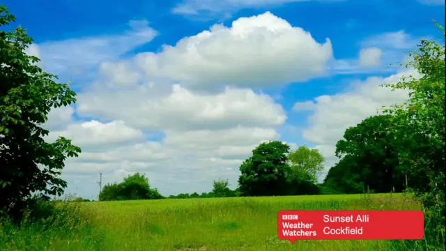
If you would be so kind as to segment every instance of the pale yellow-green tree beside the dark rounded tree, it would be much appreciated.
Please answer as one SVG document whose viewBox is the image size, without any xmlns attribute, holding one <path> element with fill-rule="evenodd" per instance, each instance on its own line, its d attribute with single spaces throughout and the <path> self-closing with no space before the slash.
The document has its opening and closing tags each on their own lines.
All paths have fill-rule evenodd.
<svg viewBox="0 0 446 251">
<path fill-rule="evenodd" d="M 323 170 L 324 158 L 317 149 L 300 146 L 288 156 L 291 172 L 289 177 L 297 181 L 316 183 L 318 173 Z"/>
</svg>

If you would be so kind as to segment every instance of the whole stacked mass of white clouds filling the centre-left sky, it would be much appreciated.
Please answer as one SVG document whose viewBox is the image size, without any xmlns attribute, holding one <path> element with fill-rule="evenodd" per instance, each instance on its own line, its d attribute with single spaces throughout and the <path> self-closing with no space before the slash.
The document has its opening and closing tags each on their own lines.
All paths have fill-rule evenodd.
<svg viewBox="0 0 446 251">
<path fill-rule="evenodd" d="M 234 188 L 241 162 L 259 143 L 280 139 L 276 129 L 286 121 L 282 105 L 252 88 L 323 75 L 332 48 L 266 13 L 184 38 L 150 54 L 155 65 L 148 54 L 123 61 L 118 52 L 92 54 L 100 55 L 90 65 L 98 66 L 98 78 L 78 91 L 75 106 L 75 117 L 85 121 L 68 112 L 49 137 L 64 135 L 82 148 L 63 177 L 67 192 L 85 197 L 97 189 L 99 172 L 104 183 L 143 172 L 164 195 L 205 192 L 217 178 L 229 178 Z M 63 118 L 59 113 L 49 125 Z"/>
</svg>

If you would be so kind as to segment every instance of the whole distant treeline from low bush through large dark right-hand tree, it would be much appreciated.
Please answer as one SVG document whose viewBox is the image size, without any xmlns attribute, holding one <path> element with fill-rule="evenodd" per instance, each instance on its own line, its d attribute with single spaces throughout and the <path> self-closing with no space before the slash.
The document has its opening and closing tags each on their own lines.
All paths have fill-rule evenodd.
<svg viewBox="0 0 446 251">
<path fill-rule="evenodd" d="M 164 197 L 151 188 L 144 174 L 130 175 L 122 183 L 105 185 L 101 201 L 128 199 L 191 199 L 214 197 L 251 197 L 279 195 L 336 195 L 363 192 L 403 192 L 429 177 L 409 172 L 399 164 L 398 144 L 401 140 L 387 128 L 391 115 L 376 115 L 348 128 L 336 145 L 339 157 L 323 183 L 318 176 L 324 168 L 324 158 L 317 149 L 300 146 L 290 152 L 284 142 L 259 144 L 252 155 L 240 165 L 236 189 L 229 182 L 213 181 L 210 192 L 180 193 Z"/>
</svg>

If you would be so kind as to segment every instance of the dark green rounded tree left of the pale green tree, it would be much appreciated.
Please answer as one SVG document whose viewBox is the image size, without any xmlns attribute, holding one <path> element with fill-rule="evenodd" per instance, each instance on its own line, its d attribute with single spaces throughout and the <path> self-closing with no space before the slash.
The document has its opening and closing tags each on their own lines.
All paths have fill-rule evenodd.
<svg viewBox="0 0 446 251">
<path fill-rule="evenodd" d="M 240 195 L 286 195 L 289 150 L 288 144 L 279 141 L 259 144 L 252 151 L 252 156 L 240 165 Z"/>
</svg>

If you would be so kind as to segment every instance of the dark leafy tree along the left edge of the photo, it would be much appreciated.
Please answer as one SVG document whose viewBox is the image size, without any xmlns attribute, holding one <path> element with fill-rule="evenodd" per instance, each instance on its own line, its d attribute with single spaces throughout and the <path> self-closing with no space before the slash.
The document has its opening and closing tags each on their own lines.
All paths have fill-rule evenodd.
<svg viewBox="0 0 446 251">
<path fill-rule="evenodd" d="M 24 29 L 3 31 L 11 22 L 15 17 L 0 6 L 0 211 L 17 219 L 32 193 L 45 199 L 63 194 L 67 183 L 57 176 L 66 158 L 81 149 L 64 137 L 44 141 L 49 132 L 41 126 L 49 111 L 71 105 L 76 93 L 54 82 L 57 77 L 39 68 L 36 56 L 25 54 L 33 39 Z"/>
</svg>

